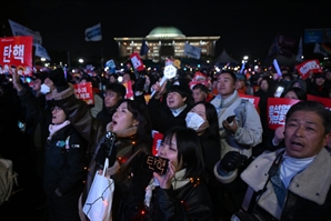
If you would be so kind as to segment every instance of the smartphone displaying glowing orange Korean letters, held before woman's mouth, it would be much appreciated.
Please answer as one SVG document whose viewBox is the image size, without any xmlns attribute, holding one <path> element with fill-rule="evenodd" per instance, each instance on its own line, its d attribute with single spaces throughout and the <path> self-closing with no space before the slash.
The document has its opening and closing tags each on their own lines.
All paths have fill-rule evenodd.
<svg viewBox="0 0 331 221">
<path fill-rule="evenodd" d="M 168 171 L 169 160 L 156 155 L 146 155 L 141 168 L 150 172 L 165 174 Z"/>
</svg>

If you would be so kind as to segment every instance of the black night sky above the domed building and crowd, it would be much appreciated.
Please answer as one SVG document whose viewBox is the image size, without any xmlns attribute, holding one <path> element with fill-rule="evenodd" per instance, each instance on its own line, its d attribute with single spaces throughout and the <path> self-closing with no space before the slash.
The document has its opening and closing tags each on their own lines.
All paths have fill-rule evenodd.
<svg viewBox="0 0 331 221">
<path fill-rule="evenodd" d="M 193 2 L 193 3 L 192 3 Z M 144 37 L 173 26 L 187 37 L 220 36 L 234 59 L 263 59 L 277 36 L 298 40 L 304 29 L 331 28 L 330 1 L 1 1 L 1 22 L 10 19 L 39 31 L 47 50 L 118 57 L 116 37 Z M 8 9 L 8 10 L 3 10 Z M 101 22 L 102 41 L 84 41 L 84 30 Z"/>
</svg>

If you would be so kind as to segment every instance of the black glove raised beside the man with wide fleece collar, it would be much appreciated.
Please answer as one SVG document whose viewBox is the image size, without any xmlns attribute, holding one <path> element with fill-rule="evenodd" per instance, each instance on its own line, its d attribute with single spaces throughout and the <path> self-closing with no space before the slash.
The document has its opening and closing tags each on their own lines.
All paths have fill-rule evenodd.
<svg viewBox="0 0 331 221">
<path fill-rule="evenodd" d="M 237 170 L 247 160 L 247 155 L 240 154 L 237 151 L 228 152 L 219 164 L 219 170 L 231 172 Z"/>
</svg>

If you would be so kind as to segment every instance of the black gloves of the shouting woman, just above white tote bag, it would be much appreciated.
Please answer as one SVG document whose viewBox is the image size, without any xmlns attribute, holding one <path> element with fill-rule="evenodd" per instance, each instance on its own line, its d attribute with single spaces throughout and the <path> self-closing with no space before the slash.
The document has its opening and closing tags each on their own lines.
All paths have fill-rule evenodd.
<svg viewBox="0 0 331 221">
<path fill-rule="evenodd" d="M 112 167 L 117 160 L 117 148 L 114 145 L 116 133 L 108 131 L 103 143 L 101 143 L 100 149 L 96 157 L 97 167 L 103 170 L 103 163 L 106 158 L 109 159 L 109 167 Z"/>
</svg>

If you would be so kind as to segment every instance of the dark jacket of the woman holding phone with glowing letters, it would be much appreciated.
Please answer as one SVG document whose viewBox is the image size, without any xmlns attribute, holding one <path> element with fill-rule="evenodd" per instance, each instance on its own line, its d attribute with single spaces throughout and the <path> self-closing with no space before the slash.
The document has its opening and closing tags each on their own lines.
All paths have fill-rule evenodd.
<svg viewBox="0 0 331 221">
<path fill-rule="evenodd" d="M 149 221 L 212 220 L 211 199 L 203 181 L 189 182 L 173 190 L 157 187 L 149 210 Z"/>
</svg>

